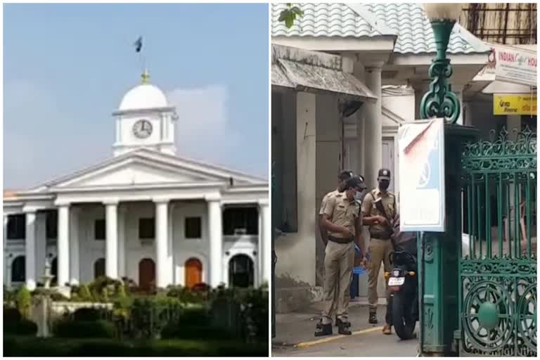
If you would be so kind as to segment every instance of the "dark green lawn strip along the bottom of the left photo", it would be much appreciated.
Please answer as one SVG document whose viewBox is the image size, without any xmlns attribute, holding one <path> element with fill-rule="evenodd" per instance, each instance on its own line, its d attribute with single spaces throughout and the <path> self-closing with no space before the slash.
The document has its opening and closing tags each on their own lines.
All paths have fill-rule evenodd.
<svg viewBox="0 0 540 360">
<path fill-rule="evenodd" d="M 4 335 L 4 356 L 269 356 L 268 342 L 113 340 Z"/>
</svg>

